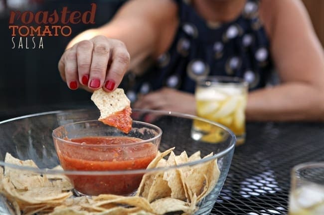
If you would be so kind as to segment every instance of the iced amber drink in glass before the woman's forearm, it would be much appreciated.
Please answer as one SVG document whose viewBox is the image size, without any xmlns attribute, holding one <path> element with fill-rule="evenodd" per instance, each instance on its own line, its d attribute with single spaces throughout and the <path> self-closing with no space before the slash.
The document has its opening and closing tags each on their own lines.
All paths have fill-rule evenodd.
<svg viewBox="0 0 324 215">
<path fill-rule="evenodd" d="M 236 144 L 244 143 L 247 94 L 248 83 L 242 78 L 200 78 L 195 90 L 197 115 L 226 126 L 236 135 Z"/>
</svg>

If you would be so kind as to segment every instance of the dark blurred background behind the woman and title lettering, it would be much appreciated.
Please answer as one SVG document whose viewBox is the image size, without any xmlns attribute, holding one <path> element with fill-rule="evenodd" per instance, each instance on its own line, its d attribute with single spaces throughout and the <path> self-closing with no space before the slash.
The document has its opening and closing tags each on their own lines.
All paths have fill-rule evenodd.
<svg viewBox="0 0 324 215">
<path fill-rule="evenodd" d="M 93 107 L 91 94 L 84 90 L 70 90 L 60 78 L 57 63 L 68 42 L 81 31 L 108 22 L 126 0 L 0 0 L 0 120 L 16 116 L 63 109 Z M 324 46 L 324 0 L 303 0 L 315 30 Z M 8 29 L 10 10 L 87 11 L 97 4 L 95 24 L 68 24 L 69 37 L 43 37 L 43 49 L 12 49 Z M 18 46 L 16 36 L 15 45 Z M 25 39 L 23 38 L 25 47 Z M 36 47 L 39 39 L 35 38 Z"/>
</svg>

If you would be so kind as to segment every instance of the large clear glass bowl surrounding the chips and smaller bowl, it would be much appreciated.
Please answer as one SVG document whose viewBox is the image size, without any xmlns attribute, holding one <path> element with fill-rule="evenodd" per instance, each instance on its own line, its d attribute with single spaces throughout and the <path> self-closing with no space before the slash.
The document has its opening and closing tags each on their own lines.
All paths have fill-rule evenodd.
<svg viewBox="0 0 324 215">
<path fill-rule="evenodd" d="M 51 175 L 51 178 L 55 178 L 55 175 L 57 177 L 61 175 L 68 177 L 111 177 L 137 174 L 146 176 L 195 167 L 197 167 L 195 170 L 199 170 L 204 164 L 214 162 L 218 169 L 217 178 L 215 177 L 213 181 L 210 181 L 209 184 L 212 186 L 206 192 L 206 195 L 197 201 L 197 210 L 194 212 L 195 215 L 209 214 L 227 177 L 235 148 L 235 135 L 220 124 L 196 116 L 153 110 L 133 109 L 132 112 L 133 120 L 151 123 L 162 129 L 163 134 L 159 151 L 174 147 L 173 151 L 176 155 L 185 150 L 188 156 L 200 151 L 201 157 L 204 158 L 184 164 L 166 167 L 157 166 L 150 169 L 85 171 L 54 168 L 60 162 L 51 135 L 53 130 L 70 123 L 96 120 L 100 115 L 98 110 L 71 110 L 27 115 L 0 122 L 0 167 L 21 172 L 28 171 L 34 174 Z M 199 129 L 196 129 L 195 125 L 199 125 Z M 31 159 L 38 168 L 4 162 L 6 152 L 20 160 Z M 211 152 L 213 155 L 206 156 Z M 12 211 L 12 205 L 8 205 L 7 200 L 1 195 L 0 214 L 16 215 Z"/>
</svg>

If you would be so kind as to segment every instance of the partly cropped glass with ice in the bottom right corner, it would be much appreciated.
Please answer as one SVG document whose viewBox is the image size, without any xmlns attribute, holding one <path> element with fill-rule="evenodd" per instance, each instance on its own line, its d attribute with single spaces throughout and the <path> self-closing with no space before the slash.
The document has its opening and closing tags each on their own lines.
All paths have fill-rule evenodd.
<svg viewBox="0 0 324 215">
<path fill-rule="evenodd" d="M 324 215 L 324 162 L 292 169 L 289 215 Z"/>
</svg>

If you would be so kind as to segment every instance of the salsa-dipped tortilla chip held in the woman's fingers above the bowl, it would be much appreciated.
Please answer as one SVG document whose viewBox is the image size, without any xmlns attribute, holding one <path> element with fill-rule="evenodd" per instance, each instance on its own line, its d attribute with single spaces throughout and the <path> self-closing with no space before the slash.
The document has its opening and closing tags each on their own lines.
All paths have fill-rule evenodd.
<svg viewBox="0 0 324 215">
<path fill-rule="evenodd" d="M 93 92 L 91 100 L 100 110 L 99 121 L 129 133 L 132 129 L 132 109 L 123 89 L 106 92 L 100 88 Z"/>
</svg>

